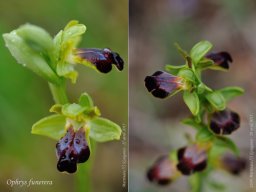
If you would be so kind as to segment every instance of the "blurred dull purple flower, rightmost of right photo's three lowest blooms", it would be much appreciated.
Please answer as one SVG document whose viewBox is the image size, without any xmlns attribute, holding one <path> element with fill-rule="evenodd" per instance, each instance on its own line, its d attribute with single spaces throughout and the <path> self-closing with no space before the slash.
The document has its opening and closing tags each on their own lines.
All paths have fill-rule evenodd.
<svg viewBox="0 0 256 192">
<path fill-rule="evenodd" d="M 246 168 L 246 160 L 231 154 L 225 154 L 221 158 L 222 168 L 233 175 L 240 174 Z"/>
</svg>

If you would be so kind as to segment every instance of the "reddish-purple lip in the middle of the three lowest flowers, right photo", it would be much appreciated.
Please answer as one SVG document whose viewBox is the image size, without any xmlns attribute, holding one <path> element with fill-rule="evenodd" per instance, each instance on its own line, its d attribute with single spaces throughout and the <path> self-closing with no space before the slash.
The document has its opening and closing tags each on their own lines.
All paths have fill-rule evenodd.
<svg viewBox="0 0 256 192">
<path fill-rule="evenodd" d="M 206 151 L 198 145 L 179 149 L 178 160 L 177 168 L 183 175 L 203 171 L 207 166 Z"/>
</svg>

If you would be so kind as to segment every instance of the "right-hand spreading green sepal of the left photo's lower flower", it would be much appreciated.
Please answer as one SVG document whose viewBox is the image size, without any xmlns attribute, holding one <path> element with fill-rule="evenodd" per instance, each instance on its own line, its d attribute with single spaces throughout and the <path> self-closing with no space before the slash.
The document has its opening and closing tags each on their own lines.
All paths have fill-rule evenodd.
<svg viewBox="0 0 256 192">
<path fill-rule="evenodd" d="M 93 118 L 88 121 L 88 126 L 90 137 L 97 142 L 119 140 L 122 133 L 119 125 L 105 118 Z"/>
</svg>

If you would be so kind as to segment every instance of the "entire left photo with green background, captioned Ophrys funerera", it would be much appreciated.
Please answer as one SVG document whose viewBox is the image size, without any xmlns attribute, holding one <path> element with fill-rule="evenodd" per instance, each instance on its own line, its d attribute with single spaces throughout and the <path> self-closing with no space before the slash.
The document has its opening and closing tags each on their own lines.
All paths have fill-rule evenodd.
<svg viewBox="0 0 256 192">
<path fill-rule="evenodd" d="M 0 191 L 128 191 L 128 0 L 0 10 Z"/>
</svg>

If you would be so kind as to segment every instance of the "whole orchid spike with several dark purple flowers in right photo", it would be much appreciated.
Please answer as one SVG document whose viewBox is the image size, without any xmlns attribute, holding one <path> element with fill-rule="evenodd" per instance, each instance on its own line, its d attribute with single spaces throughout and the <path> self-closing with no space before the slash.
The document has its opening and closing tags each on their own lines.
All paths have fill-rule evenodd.
<svg viewBox="0 0 256 192">
<path fill-rule="evenodd" d="M 205 70 L 229 69 L 233 60 L 228 52 L 208 53 L 212 48 L 208 41 L 197 43 L 190 53 L 175 45 L 185 64 L 166 65 L 166 71 L 147 76 L 145 86 L 161 99 L 183 92 L 184 103 L 192 115 L 182 122 L 196 129 L 196 135 L 187 146 L 159 157 L 147 177 L 151 182 L 167 185 L 181 175 L 189 175 L 192 191 L 199 192 L 203 191 L 203 183 L 211 170 L 221 168 L 239 174 L 245 168 L 245 160 L 238 157 L 236 144 L 226 136 L 240 127 L 238 113 L 227 108 L 227 103 L 241 95 L 243 89 L 213 90 L 202 81 Z M 233 154 L 227 156 L 227 150 Z"/>
</svg>

